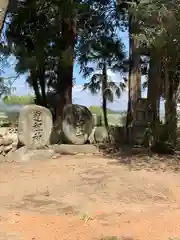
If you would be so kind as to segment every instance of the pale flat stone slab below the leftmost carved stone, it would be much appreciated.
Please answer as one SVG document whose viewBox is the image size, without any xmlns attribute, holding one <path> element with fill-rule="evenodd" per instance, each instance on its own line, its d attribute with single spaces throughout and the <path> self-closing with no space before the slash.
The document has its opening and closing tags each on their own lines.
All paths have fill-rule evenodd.
<svg viewBox="0 0 180 240">
<path fill-rule="evenodd" d="M 6 155 L 7 162 L 28 162 L 34 160 L 49 160 L 54 155 L 53 149 L 28 149 L 21 147 Z"/>
</svg>

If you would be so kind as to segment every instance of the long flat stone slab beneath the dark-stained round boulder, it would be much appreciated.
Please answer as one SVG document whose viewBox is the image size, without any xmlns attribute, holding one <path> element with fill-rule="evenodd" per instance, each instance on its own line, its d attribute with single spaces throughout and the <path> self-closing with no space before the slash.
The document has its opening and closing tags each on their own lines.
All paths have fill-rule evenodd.
<svg viewBox="0 0 180 240">
<path fill-rule="evenodd" d="M 84 145 L 69 145 L 69 144 L 61 144 L 52 146 L 55 153 L 61 154 L 97 154 L 99 153 L 98 149 L 94 145 L 84 144 Z"/>
</svg>

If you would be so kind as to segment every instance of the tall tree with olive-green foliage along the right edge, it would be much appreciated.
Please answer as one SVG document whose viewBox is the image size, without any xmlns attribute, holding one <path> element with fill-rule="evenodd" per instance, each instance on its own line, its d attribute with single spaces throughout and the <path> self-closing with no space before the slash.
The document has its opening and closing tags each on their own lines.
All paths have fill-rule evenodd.
<svg viewBox="0 0 180 240">
<path fill-rule="evenodd" d="M 173 2 L 142 0 L 136 8 L 136 15 L 141 23 L 138 39 L 141 45 L 148 49 L 151 58 L 150 66 L 153 66 L 151 70 L 154 69 L 153 77 L 149 78 L 149 81 L 152 81 L 149 84 L 154 90 L 151 94 L 153 111 L 157 111 L 157 104 L 156 106 L 154 104 L 157 95 L 159 94 L 160 97 L 162 94 L 166 101 L 166 123 L 172 133 L 169 134 L 171 140 L 173 138 L 175 140 L 176 91 L 179 85 L 177 78 L 180 47 L 179 5 L 178 0 Z"/>
</svg>

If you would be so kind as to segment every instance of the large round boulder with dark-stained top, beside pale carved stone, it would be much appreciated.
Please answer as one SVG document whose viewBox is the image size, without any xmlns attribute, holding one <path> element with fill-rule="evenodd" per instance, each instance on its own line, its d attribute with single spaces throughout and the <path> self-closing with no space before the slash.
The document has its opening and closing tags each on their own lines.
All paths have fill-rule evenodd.
<svg viewBox="0 0 180 240">
<path fill-rule="evenodd" d="M 82 105 L 68 104 L 62 116 L 62 131 L 67 143 L 84 144 L 94 127 L 94 119 L 89 109 Z"/>
</svg>

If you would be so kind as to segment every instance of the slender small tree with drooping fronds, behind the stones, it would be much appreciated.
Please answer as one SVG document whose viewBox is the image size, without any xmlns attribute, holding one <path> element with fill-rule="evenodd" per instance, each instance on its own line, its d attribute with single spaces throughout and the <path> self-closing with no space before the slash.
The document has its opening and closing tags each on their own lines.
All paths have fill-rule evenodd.
<svg viewBox="0 0 180 240">
<path fill-rule="evenodd" d="M 104 36 L 103 34 L 102 32 L 102 36 L 97 40 L 82 43 L 81 48 L 84 54 L 81 52 L 78 60 L 84 76 L 87 78 L 91 75 L 90 82 L 85 83 L 84 88 L 89 89 L 92 94 L 97 94 L 101 90 L 104 123 L 108 128 L 107 100 L 112 102 L 114 93 L 117 97 L 120 97 L 125 84 L 123 82 L 116 84 L 110 80 L 107 70 L 122 72 L 124 70 L 125 54 L 124 46 L 120 40 L 114 38 L 114 36 Z M 100 73 L 95 73 L 97 70 Z"/>
</svg>

